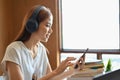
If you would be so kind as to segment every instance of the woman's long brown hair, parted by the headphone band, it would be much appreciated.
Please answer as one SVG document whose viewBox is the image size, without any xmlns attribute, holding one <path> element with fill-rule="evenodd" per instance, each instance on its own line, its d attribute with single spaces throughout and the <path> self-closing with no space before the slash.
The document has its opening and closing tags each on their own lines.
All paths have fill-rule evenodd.
<svg viewBox="0 0 120 80">
<path fill-rule="evenodd" d="M 30 36 L 32 33 L 28 32 L 26 30 L 26 22 L 28 21 L 28 19 L 31 17 L 32 13 L 34 12 L 34 10 L 37 8 L 38 6 L 33 7 L 25 16 L 24 20 L 23 20 L 23 24 L 22 26 L 24 27 L 23 32 L 20 34 L 20 36 L 16 39 L 16 41 L 22 41 L 25 42 L 27 40 L 29 40 Z M 46 8 L 45 6 L 41 6 L 42 9 L 39 11 L 39 14 L 37 16 L 37 21 L 39 22 L 39 24 L 44 21 L 45 19 L 47 19 L 49 16 L 52 15 L 51 11 L 49 8 Z"/>
</svg>

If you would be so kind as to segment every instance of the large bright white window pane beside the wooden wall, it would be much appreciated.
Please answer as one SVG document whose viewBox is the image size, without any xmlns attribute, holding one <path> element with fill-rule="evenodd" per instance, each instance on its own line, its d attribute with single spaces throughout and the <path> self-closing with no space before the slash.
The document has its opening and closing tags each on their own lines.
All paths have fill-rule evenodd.
<svg viewBox="0 0 120 80">
<path fill-rule="evenodd" d="M 61 0 L 62 50 L 119 52 L 119 0 Z"/>
</svg>

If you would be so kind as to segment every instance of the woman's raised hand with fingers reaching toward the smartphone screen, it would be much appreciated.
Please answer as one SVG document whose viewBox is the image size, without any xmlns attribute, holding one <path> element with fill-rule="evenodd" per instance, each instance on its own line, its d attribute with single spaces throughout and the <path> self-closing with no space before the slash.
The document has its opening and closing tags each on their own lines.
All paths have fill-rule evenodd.
<svg viewBox="0 0 120 80">
<path fill-rule="evenodd" d="M 71 61 L 75 60 L 76 58 L 74 57 L 67 57 L 65 60 L 63 60 L 61 62 L 61 64 L 55 69 L 55 72 L 57 74 L 60 74 L 62 72 L 65 71 L 65 69 L 68 67 L 68 66 L 72 66 L 74 65 Z"/>
</svg>

